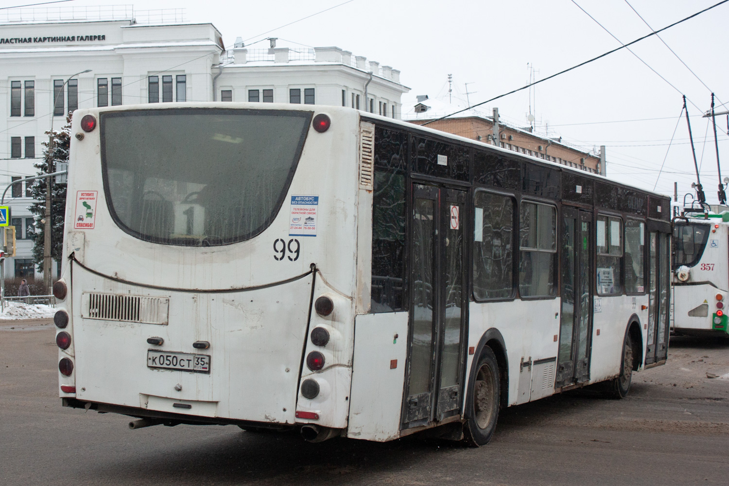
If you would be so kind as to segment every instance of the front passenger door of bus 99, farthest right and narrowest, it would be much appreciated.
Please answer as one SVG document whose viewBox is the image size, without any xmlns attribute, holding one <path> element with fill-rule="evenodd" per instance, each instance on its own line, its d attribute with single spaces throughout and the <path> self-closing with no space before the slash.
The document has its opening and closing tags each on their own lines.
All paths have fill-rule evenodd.
<svg viewBox="0 0 729 486">
<path fill-rule="evenodd" d="M 668 356 L 668 291 L 671 275 L 668 273 L 669 235 L 650 232 L 648 259 L 648 332 L 645 364 L 662 361 Z"/>
</svg>

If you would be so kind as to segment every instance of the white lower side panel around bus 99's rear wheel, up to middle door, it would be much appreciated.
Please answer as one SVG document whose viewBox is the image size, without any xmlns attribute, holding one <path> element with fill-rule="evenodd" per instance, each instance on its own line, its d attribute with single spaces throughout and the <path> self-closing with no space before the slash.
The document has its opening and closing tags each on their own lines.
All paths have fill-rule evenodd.
<svg viewBox="0 0 729 486">
<path fill-rule="evenodd" d="M 504 337 L 509 358 L 509 390 L 502 393 L 508 393 L 510 405 L 529 401 L 532 380 L 542 381 L 542 377 L 532 377 L 529 365 L 521 366 L 522 360 L 534 362 L 557 356 L 558 342 L 554 336 L 559 334 L 559 312 L 560 299 L 470 303 L 469 348 L 477 346 L 483 333 L 492 327 Z M 469 372 L 472 358 L 469 356 L 467 363 Z M 541 391 L 540 396 L 554 392 L 554 377 L 551 382 L 551 391 Z"/>
</svg>

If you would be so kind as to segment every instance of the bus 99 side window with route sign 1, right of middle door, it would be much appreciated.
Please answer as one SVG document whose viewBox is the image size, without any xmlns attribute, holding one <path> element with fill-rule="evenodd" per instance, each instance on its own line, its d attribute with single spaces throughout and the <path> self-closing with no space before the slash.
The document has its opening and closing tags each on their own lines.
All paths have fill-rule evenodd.
<svg viewBox="0 0 729 486">
<path fill-rule="evenodd" d="M 623 222 L 612 216 L 597 217 L 597 293 L 622 294 Z"/>
</svg>

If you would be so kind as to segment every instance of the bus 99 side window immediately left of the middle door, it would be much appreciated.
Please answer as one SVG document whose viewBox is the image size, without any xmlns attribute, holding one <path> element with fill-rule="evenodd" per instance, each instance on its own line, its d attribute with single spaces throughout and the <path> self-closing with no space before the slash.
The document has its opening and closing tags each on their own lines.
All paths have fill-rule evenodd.
<svg viewBox="0 0 729 486">
<path fill-rule="evenodd" d="M 521 203 L 519 249 L 521 297 L 553 296 L 557 256 L 557 210 L 554 206 Z"/>
</svg>

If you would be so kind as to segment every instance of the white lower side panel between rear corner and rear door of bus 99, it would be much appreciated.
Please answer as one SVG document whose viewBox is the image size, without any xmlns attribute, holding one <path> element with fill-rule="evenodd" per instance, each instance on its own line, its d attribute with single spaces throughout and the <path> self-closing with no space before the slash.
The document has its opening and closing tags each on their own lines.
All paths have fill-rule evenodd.
<svg viewBox="0 0 729 486">
<path fill-rule="evenodd" d="M 347 436 L 380 442 L 397 439 L 405 385 L 408 313 L 357 315 L 354 342 Z"/>
</svg>

